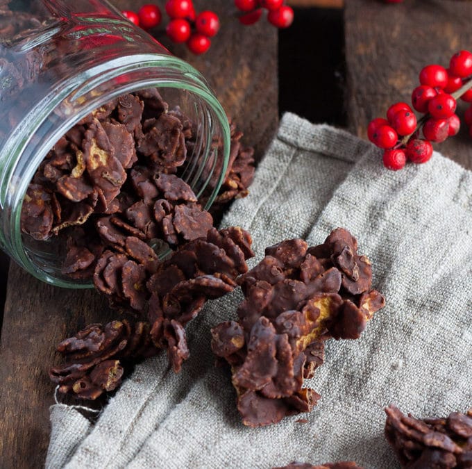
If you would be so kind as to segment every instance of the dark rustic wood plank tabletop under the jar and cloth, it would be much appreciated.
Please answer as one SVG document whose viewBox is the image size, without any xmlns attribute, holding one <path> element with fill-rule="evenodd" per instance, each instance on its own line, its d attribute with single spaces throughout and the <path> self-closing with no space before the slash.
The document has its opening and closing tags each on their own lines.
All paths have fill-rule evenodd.
<svg viewBox="0 0 472 469">
<path fill-rule="evenodd" d="M 136 10 L 147 2 L 114 3 Z M 228 0 L 205 1 L 205 8 L 219 13 L 222 22 L 208 54 L 197 58 L 187 54 L 185 47 L 173 47 L 173 51 L 203 72 L 228 115 L 244 131 L 244 142 L 255 145 L 260 157 L 278 124 L 277 32 L 267 22 L 242 28 L 231 16 L 233 2 Z M 471 49 L 471 18 L 472 2 L 346 1 L 348 128 L 365 137 L 369 120 L 384 115 L 389 104 L 409 101 L 423 65 L 447 65 L 456 50 Z M 309 47 L 306 60 L 310 60 Z M 319 67 L 323 73 L 323 64 Z M 472 141 L 466 129 L 437 149 L 472 169 Z M 113 317 L 107 302 L 94 290 L 53 288 L 11 265 L 0 342 L 2 468 L 44 465 L 53 404 L 47 370 L 58 361 L 55 345 L 88 322 Z"/>
</svg>

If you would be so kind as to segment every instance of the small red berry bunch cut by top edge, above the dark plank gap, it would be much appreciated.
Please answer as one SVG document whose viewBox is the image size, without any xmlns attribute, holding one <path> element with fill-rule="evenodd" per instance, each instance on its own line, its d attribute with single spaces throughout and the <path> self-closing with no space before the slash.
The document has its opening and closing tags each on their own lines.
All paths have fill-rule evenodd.
<svg viewBox="0 0 472 469">
<path fill-rule="evenodd" d="M 241 12 L 238 16 L 241 24 L 254 24 L 262 16 L 262 9 L 267 10 L 267 21 L 276 28 L 288 28 L 294 21 L 294 10 L 284 5 L 284 0 L 235 0 L 235 6 Z"/>
</svg>

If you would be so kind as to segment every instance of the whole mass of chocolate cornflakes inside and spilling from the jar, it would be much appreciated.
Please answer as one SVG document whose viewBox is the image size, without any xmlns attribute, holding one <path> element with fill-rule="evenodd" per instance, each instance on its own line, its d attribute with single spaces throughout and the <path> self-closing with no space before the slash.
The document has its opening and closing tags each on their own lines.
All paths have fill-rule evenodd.
<svg viewBox="0 0 472 469">
<path fill-rule="evenodd" d="M 253 176 L 252 149 L 241 146 L 241 136 L 232 126 L 221 204 L 246 195 Z M 215 229 L 181 177 L 195 144 L 196 126 L 181 110 L 169 110 L 157 90 L 142 90 L 83 118 L 37 169 L 22 231 L 39 241 L 62 238 L 62 273 L 93 280 L 112 307 L 134 317 L 91 324 L 60 343 L 65 364 L 50 372 L 60 393 L 95 399 L 119 385 L 128 365 L 158 349 L 167 349 L 178 372 L 189 356 L 185 324 L 247 272 L 251 236 L 239 227 Z M 215 184 L 210 192 L 216 173 L 206 175 Z M 164 247 L 171 254 L 161 261 L 156 251 Z"/>
</svg>

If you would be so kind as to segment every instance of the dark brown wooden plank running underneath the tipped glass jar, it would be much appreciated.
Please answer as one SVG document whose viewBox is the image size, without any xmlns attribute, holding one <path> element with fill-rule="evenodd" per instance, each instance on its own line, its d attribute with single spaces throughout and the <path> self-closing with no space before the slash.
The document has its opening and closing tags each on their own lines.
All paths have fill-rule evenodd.
<svg viewBox="0 0 472 469">
<path fill-rule="evenodd" d="M 120 9 L 137 10 L 148 2 L 114 3 Z M 205 1 L 205 8 L 221 18 L 221 31 L 207 54 L 192 56 L 183 46 L 162 42 L 203 73 L 244 131 L 243 142 L 254 145 L 260 158 L 278 124 L 276 29 L 267 22 L 244 28 L 232 16 L 233 2 L 228 0 Z M 85 324 L 113 317 L 116 313 L 94 290 L 54 288 L 11 266 L 0 343 L 2 468 L 44 466 L 53 404 L 47 370 L 60 361 L 55 346 Z"/>
</svg>

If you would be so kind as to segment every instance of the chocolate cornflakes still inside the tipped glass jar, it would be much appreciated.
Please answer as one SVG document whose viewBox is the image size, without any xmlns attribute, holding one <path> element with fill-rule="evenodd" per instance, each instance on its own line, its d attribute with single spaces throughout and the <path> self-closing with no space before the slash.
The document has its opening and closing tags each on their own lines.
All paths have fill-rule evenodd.
<svg viewBox="0 0 472 469">
<path fill-rule="evenodd" d="M 104 246 L 115 248 L 129 235 L 171 247 L 204 236 L 212 217 L 178 174 L 192 154 L 195 126 L 180 109 L 168 107 L 155 88 L 124 94 L 69 130 L 28 187 L 22 231 L 47 240 L 86 224 L 87 235 L 96 231 Z M 239 138 L 233 133 L 231 163 L 244 161 L 240 171 L 246 177 L 229 194 L 227 186 L 239 174 L 229 167 L 221 189 L 226 202 L 245 195 L 242 181 L 252 180 L 253 160 L 246 157 L 251 149 L 242 149 Z M 74 236 L 70 231 L 67 236 Z"/>
</svg>

